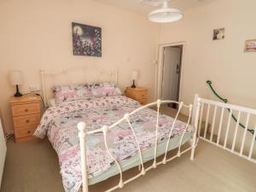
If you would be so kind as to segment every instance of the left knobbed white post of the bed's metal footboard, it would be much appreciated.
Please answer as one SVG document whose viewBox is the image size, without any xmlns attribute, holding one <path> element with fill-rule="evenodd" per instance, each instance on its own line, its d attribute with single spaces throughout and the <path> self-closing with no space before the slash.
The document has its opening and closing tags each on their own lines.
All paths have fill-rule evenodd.
<svg viewBox="0 0 256 192">
<path fill-rule="evenodd" d="M 78 125 L 79 129 L 79 142 L 81 151 L 81 172 L 83 181 L 83 192 L 88 192 L 88 174 L 87 174 L 87 159 L 86 159 L 86 125 L 84 122 L 80 122 Z"/>
</svg>

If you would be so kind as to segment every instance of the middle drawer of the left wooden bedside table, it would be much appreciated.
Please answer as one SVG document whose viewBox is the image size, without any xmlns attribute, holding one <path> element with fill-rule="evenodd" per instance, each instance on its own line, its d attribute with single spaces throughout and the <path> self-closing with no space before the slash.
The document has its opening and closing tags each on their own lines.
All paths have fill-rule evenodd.
<svg viewBox="0 0 256 192">
<path fill-rule="evenodd" d="M 14 125 L 15 128 L 29 125 L 38 125 L 40 119 L 41 113 L 14 117 Z"/>
</svg>

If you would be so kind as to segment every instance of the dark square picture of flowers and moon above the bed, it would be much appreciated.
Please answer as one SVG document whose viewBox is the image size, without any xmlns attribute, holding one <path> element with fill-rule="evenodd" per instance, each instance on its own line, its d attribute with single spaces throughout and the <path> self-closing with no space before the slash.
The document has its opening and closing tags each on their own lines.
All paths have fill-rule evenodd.
<svg viewBox="0 0 256 192">
<path fill-rule="evenodd" d="M 72 23 L 73 55 L 102 56 L 102 28 Z"/>
</svg>

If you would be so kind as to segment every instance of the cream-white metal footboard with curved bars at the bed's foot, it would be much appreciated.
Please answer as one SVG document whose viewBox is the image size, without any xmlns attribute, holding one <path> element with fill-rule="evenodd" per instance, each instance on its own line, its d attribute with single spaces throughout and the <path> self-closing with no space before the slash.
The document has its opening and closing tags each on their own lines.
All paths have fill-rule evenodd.
<svg viewBox="0 0 256 192">
<path fill-rule="evenodd" d="M 164 158 L 163 158 L 163 160 L 157 162 L 156 158 L 157 158 L 157 147 L 158 147 L 157 141 L 158 141 L 160 105 L 164 104 L 164 103 L 177 103 L 178 104 L 178 110 L 177 110 L 176 117 L 175 117 L 175 119 L 173 120 L 173 123 L 172 123 L 172 128 L 170 130 L 169 137 L 168 137 L 169 139 L 167 140 L 167 143 L 166 143 L 166 152 L 165 152 Z M 149 167 L 145 168 L 143 166 L 143 163 L 144 163 L 143 162 L 143 154 L 142 154 L 141 148 L 139 147 L 139 143 L 138 143 L 138 140 L 137 140 L 137 135 L 136 135 L 136 133 L 135 133 L 135 131 L 134 131 L 132 125 L 131 125 L 130 116 L 132 114 L 137 113 L 138 111 L 142 110 L 143 108 L 152 107 L 154 105 L 157 106 L 156 125 L 155 125 L 155 139 L 154 139 L 154 162 L 153 162 L 152 166 L 149 166 Z M 194 160 L 195 147 L 196 147 L 196 143 L 197 143 L 197 139 L 196 139 L 197 136 L 196 135 L 197 135 L 197 126 L 198 126 L 198 119 L 199 119 L 199 108 L 200 108 L 200 98 L 198 98 L 198 96 L 195 96 L 195 108 L 192 108 L 192 107 L 193 107 L 192 105 L 189 105 L 189 106 L 184 105 L 183 102 L 160 101 L 160 100 L 158 100 L 157 102 L 152 102 L 152 103 L 149 103 L 149 104 L 147 104 L 147 105 L 145 105 L 141 108 L 137 108 L 136 110 L 134 110 L 131 113 L 126 113 L 122 119 L 119 119 L 117 122 L 113 123 L 113 125 L 110 125 L 110 126 L 104 125 L 104 126 L 102 126 L 102 128 L 97 129 L 95 131 L 86 131 L 85 123 L 80 122 L 79 125 L 78 125 L 78 129 L 79 129 L 79 141 L 80 141 L 80 151 L 81 151 L 81 168 L 82 168 L 82 179 L 83 179 L 83 186 L 82 186 L 83 187 L 83 192 L 88 192 L 89 191 L 89 189 L 88 189 L 89 183 L 88 183 L 88 173 L 87 173 L 87 160 L 86 160 L 86 147 L 85 147 L 86 136 L 88 136 L 88 135 L 92 135 L 92 134 L 99 133 L 99 132 L 103 133 L 104 143 L 105 143 L 105 147 L 108 151 L 108 154 L 110 155 L 110 157 L 113 159 L 113 161 L 115 162 L 115 164 L 119 168 L 119 175 L 120 175 L 119 184 L 114 186 L 111 189 L 106 190 L 106 192 L 110 192 L 110 191 L 113 191 L 115 189 L 123 188 L 126 183 L 130 183 L 131 181 L 137 179 L 138 177 L 141 177 L 141 176 L 145 175 L 149 170 L 156 168 L 160 164 L 166 164 L 166 162 L 169 162 L 169 161 L 171 161 L 171 160 L 173 160 L 177 157 L 180 157 L 182 154 L 188 152 L 189 150 L 191 150 L 190 160 Z M 178 114 L 180 113 L 182 108 L 189 108 L 189 119 L 186 123 L 186 127 L 185 127 L 185 129 L 183 131 L 183 134 L 182 134 L 182 137 L 180 139 L 177 154 L 172 156 L 169 159 L 166 159 L 166 154 L 168 152 L 169 143 L 170 143 L 170 139 L 171 139 L 171 136 L 172 136 L 172 131 L 173 131 L 175 123 L 177 121 Z M 192 112 L 192 109 L 193 109 L 193 112 Z M 189 148 L 186 148 L 183 151 L 181 151 L 181 146 L 182 146 L 182 143 L 183 143 L 183 136 L 184 136 L 185 132 L 188 129 L 190 119 L 192 119 L 192 125 L 194 125 L 193 126 L 194 131 L 193 131 L 193 134 L 192 134 L 191 146 Z M 123 181 L 122 167 L 120 166 L 118 160 L 116 160 L 113 157 L 113 154 L 110 152 L 110 150 L 108 148 L 108 142 L 107 142 L 108 131 L 113 129 L 113 127 L 115 127 L 116 125 L 119 125 L 123 121 L 127 122 L 127 124 L 131 128 L 131 131 L 132 131 L 134 137 L 136 138 L 137 151 L 138 151 L 138 154 L 139 154 L 138 158 L 139 158 L 139 161 L 140 161 L 140 165 L 139 165 L 139 171 L 140 172 L 136 176 L 131 177 L 130 179 L 128 179 L 126 181 Z"/>
</svg>

